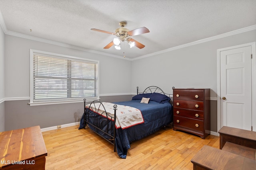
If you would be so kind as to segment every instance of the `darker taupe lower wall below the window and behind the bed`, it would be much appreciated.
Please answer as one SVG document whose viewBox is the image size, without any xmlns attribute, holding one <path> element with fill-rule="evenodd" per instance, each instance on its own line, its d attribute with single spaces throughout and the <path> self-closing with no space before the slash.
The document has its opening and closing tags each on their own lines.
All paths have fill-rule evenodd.
<svg viewBox="0 0 256 170">
<path fill-rule="evenodd" d="M 131 100 L 131 98 L 131 95 L 104 96 L 101 97 L 100 101 L 118 102 Z M 84 113 L 84 102 L 43 106 L 30 106 L 28 102 L 29 100 L 5 101 L 6 131 L 36 125 L 46 128 L 79 122 Z"/>
</svg>

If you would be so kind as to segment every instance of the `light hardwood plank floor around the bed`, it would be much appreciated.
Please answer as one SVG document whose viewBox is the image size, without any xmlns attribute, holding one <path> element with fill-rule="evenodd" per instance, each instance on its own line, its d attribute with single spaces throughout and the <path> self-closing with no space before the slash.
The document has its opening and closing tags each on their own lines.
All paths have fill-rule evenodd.
<svg viewBox="0 0 256 170">
<path fill-rule="evenodd" d="M 192 157 L 204 146 L 219 148 L 219 137 L 206 139 L 174 131 L 172 127 L 134 141 L 127 158 L 113 145 L 78 126 L 42 132 L 48 152 L 46 170 L 192 170 Z"/>
</svg>

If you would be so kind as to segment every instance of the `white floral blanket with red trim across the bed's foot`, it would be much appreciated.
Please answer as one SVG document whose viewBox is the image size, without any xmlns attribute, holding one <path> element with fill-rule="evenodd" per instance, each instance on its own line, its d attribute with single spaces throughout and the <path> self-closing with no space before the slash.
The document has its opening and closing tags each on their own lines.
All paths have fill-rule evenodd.
<svg viewBox="0 0 256 170">
<path fill-rule="evenodd" d="M 108 115 L 114 117 L 114 104 L 102 102 Z M 86 105 L 88 108 L 90 104 Z M 105 109 L 100 103 L 91 105 L 90 109 L 104 117 L 106 117 Z M 144 119 L 139 109 L 130 106 L 118 105 L 116 107 L 116 128 L 126 129 L 128 127 L 142 124 Z"/>
</svg>

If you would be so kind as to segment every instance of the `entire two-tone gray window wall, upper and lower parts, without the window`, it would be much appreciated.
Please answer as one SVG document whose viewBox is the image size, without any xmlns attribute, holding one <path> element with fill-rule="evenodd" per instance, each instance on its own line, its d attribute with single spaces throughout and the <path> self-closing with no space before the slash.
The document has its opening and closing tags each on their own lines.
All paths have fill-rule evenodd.
<svg viewBox="0 0 256 170">
<path fill-rule="evenodd" d="M 131 64 L 122 57 L 108 57 L 87 51 L 5 35 L 5 131 L 40 125 L 41 128 L 74 123 L 82 116 L 83 103 L 30 106 L 29 51 L 84 57 L 100 61 L 100 96 L 104 100 L 131 99 Z M 117 71 L 118 70 L 118 71 Z M 122 71 L 119 71 L 122 70 Z M 109 97 L 108 97 L 109 96 Z M 0 107 L 1 108 L 1 107 Z"/>
</svg>

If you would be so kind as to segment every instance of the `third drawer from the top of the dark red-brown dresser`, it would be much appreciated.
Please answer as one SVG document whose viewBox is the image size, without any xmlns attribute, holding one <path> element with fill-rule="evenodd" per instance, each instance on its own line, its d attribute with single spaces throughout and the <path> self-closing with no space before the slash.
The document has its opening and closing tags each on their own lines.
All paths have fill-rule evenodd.
<svg viewBox="0 0 256 170">
<path fill-rule="evenodd" d="M 189 118 L 198 119 L 198 120 L 204 119 L 204 111 L 180 109 L 180 108 L 174 107 L 173 114 L 176 116 L 189 117 Z"/>
</svg>

